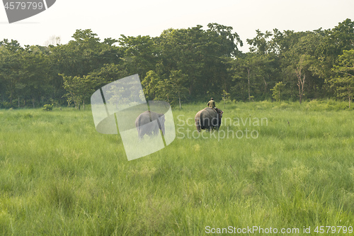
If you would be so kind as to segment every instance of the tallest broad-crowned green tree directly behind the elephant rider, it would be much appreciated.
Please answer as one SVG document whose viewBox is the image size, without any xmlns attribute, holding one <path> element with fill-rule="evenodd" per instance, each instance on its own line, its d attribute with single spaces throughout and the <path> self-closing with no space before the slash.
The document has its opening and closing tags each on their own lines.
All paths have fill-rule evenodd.
<svg viewBox="0 0 354 236">
<path fill-rule="evenodd" d="M 187 29 L 164 30 L 155 39 L 159 45 L 159 76 L 168 78 L 172 71 L 181 70 L 188 74 L 185 87 L 188 96 L 205 98 L 207 94 L 222 94 L 229 89 L 231 79 L 227 69 L 230 57 L 239 55 L 238 46 L 242 45 L 239 35 L 232 27 L 217 23 L 207 25 L 207 30 L 198 25 Z"/>
</svg>

